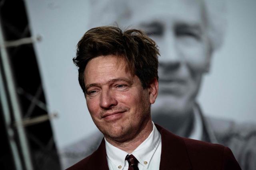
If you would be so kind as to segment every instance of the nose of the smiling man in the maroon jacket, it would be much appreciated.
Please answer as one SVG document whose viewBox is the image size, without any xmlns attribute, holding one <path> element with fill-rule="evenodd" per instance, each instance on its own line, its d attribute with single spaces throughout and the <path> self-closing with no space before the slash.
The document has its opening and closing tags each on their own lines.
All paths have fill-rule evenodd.
<svg viewBox="0 0 256 170">
<path fill-rule="evenodd" d="M 110 109 L 112 106 L 117 105 L 116 96 L 110 90 L 102 89 L 101 98 L 100 98 L 100 107 L 104 109 Z"/>
</svg>

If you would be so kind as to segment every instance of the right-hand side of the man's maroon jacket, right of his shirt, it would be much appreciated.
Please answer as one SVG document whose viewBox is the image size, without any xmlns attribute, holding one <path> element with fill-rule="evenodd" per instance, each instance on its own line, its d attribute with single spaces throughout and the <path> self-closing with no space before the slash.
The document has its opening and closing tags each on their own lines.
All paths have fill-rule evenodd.
<svg viewBox="0 0 256 170">
<path fill-rule="evenodd" d="M 156 127 L 162 137 L 161 161 L 164 158 L 163 164 L 168 164 L 168 167 L 196 170 L 241 170 L 228 147 L 179 137 L 159 125 Z M 170 163 L 170 160 L 175 160 L 175 163 Z"/>
</svg>

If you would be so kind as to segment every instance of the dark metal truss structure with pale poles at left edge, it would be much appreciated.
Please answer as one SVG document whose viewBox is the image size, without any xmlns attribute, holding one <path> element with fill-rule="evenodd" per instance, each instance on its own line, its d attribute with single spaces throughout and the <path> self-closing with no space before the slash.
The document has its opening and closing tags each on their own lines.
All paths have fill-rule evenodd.
<svg viewBox="0 0 256 170">
<path fill-rule="evenodd" d="M 58 170 L 40 72 L 22 0 L 0 0 L 0 164 L 8 170 Z M 2 168 L 1 168 L 2 169 Z"/>
</svg>

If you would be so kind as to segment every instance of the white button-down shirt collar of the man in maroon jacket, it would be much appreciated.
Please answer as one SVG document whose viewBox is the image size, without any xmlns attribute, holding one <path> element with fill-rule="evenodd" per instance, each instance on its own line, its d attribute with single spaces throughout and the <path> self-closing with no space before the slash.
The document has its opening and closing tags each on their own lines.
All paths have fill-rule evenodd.
<svg viewBox="0 0 256 170">
<path fill-rule="evenodd" d="M 153 123 L 153 122 L 152 122 Z M 108 159 L 118 168 L 118 166 L 125 166 L 125 157 L 128 154 L 127 152 L 114 147 L 105 139 L 106 143 L 106 153 Z M 156 151 L 158 145 L 161 142 L 161 135 L 156 129 L 156 126 L 153 123 L 153 130 L 145 141 L 143 141 L 131 154 L 135 156 L 140 164 L 148 168 L 150 160 Z"/>
</svg>

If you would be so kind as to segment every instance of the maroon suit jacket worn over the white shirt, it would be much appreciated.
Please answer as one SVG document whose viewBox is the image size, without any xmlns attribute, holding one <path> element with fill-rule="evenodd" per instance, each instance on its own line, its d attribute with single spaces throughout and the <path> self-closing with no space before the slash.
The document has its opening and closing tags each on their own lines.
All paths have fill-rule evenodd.
<svg viewBox="0 0 256 170">
<path fill-rule="evenodd" d="M 161 133 L 160 170 L 241 170 L 228 147 L 182 138 L 156 125 Z M 67 170 L 108 170 L 105 141 Z"/>
</svg>

